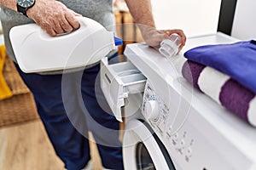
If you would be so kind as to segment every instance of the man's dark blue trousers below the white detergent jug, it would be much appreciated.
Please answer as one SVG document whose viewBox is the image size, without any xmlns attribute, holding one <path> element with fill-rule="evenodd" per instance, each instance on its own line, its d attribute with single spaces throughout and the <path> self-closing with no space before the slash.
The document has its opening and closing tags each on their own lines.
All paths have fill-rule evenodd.
<svg viewBox="0 0 256 170">
<path fill-rule="evenodd" d="M 34 95 L 56 154 L 68 170 L 80 170 L 90 161 L 88 131 L 96 140 L 103 167 L 123 169 L 119 122 L 102 94 L 100 65 L 62 75 L 26 74 L 16 67 Z"/>
</svg>

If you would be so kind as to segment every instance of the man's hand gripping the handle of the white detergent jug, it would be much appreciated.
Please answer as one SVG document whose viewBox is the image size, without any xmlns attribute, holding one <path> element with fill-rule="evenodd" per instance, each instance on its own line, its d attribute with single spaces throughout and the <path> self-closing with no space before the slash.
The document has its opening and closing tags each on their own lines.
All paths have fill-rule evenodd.
<svg viewBox="0 0 256 170">
<path fill-rule="evenodd" d="M 27 10 L 26 14 L 53 37 L 64 32 L 71 32 L 80 26 L 75 16 L 81 15 L 55 0 L 38 0 L 32 8 Z"/>
</svg>

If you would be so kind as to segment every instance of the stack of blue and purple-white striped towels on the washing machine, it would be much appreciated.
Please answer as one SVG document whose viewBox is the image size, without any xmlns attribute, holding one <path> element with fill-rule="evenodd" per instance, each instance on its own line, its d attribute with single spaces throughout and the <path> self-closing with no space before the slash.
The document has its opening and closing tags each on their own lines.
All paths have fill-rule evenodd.
<svg viewBox="0 0 256 170">
<path fill-rule="evenodd" d="M 256 127 L 256 42 L 207 45 L 184 56 L 183 77 Z"/>
</svg>

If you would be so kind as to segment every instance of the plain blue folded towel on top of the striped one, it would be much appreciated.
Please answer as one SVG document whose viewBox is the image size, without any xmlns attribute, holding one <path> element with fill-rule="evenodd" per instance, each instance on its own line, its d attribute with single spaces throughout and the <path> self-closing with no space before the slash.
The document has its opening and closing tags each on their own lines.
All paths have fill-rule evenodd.
<svg viewBox="0 0 256 170">
<path fill-rule="evenodd" d="M 256 94 L 256 41 L 201 46 L 184 56 L 232 77 Z"/>
</svg>

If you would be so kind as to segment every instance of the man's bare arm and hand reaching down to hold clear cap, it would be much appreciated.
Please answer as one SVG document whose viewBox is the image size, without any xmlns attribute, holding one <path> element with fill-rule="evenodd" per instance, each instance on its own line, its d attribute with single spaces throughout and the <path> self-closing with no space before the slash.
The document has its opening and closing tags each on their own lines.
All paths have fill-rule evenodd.
<svg viewBox="0 0 256 170">
<path fill-rule="evenodd" d="M 150 0 L 125 0 L 130 13 L 140 28 L 143 39 L 149 46 L 157 47 L 160 42 L 167 39 L 172 33 L 177 33 L 182 37 L 182 45 L 186 42 L 186 37 L 182 30 L 164 30 L 158 31 L 155 29 L 154 18 Z"/>
</svg>

